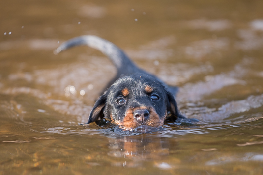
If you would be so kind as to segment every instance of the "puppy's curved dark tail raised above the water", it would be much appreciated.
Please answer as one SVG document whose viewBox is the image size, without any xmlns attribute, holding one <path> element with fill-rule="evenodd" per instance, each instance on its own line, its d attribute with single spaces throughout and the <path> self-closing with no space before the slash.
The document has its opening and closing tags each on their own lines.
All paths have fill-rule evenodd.
<svg viewBox="0 0 263 175">
<path fill-rule="evenodd" d="M 83 35 L 72 38 L 62 43 L 56 50 L 54 50 L 54 54 L 58 54 L 63 50 L 79 45 L 87 45 L 108 56 L 116 66 L 119 75 L 132 74 L 135 72 L 145 73 L 143 70 L 138 68 L 115 44 L 93 35 Z"/>
</svg>

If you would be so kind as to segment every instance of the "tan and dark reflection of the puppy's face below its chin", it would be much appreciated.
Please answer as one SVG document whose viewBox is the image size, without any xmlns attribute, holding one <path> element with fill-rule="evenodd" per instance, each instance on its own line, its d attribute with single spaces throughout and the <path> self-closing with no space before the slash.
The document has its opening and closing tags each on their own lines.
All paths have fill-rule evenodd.
<svg viewBox="0 0 263 175">
<path fill-rule="evenodd" d="M 127 161 L 121 164 L 123 167 L 142 167 L 143 161 L 162 161 L 169 156 L 170 144 L 176 147 L 175 142 L 169 143 L 166 138 L 154 138 L 145 135 L 109 138 L 110 151 L 108 155 L 125 158 Z M 120 166 L 120 163 L 115 164 L 115 166 Z"/>
</svg>

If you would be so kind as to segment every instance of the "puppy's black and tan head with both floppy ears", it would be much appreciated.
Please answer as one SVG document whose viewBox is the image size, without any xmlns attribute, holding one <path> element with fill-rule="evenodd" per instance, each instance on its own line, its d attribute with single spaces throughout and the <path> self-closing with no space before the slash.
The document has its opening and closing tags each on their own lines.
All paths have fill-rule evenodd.
<svg viewBox="0 0 263 175">
<path fill-rule="evenodd" d="M 124 128 L 140 125 L 162 126 L 166 116 L 179 113 L 172 93 L 149 75 L 134 74 L 119 78 L 96 101 L 88 123 L 104 116 Z"/>
</svg>

